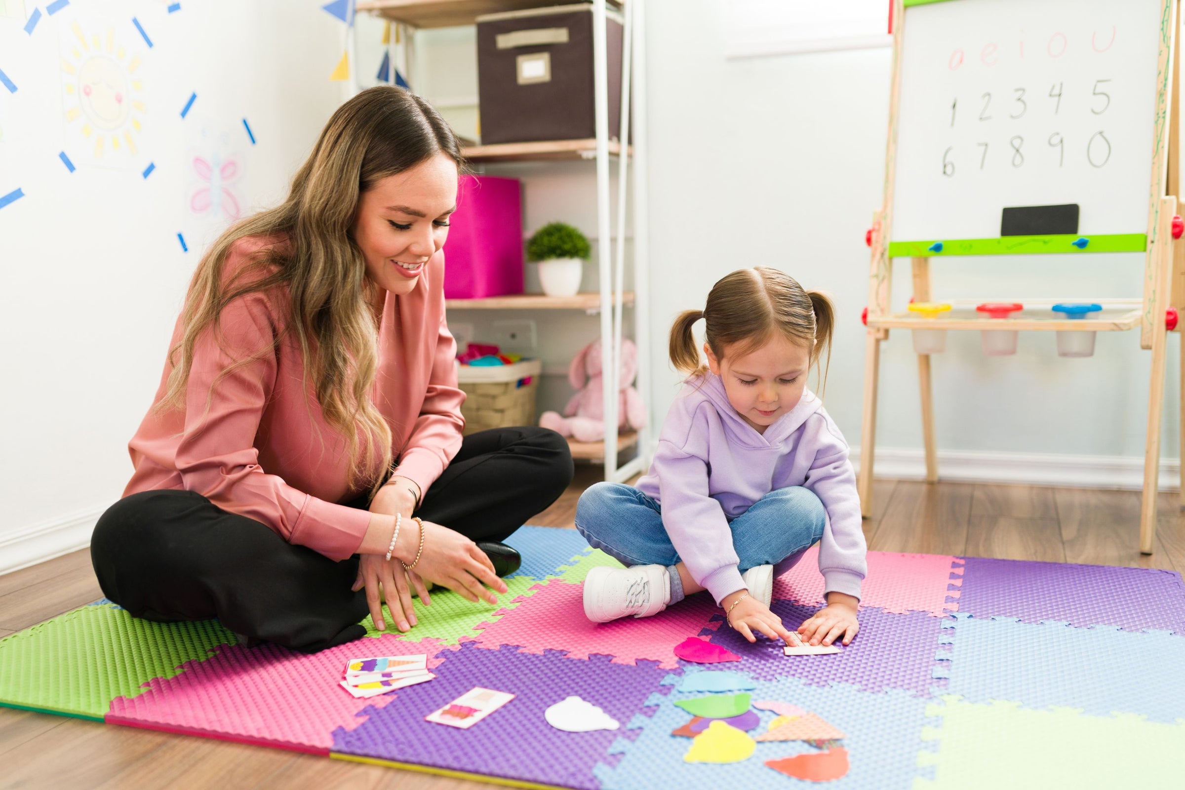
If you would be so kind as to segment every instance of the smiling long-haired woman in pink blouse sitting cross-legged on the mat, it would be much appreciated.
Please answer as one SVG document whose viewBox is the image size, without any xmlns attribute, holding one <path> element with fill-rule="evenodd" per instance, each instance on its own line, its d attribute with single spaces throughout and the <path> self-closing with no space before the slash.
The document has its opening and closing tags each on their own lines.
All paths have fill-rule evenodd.
<svg viewBox="0 0 1185 790">
<path fill-rule="evenodd" d="M 367 611 L 384 629 L 380 597 L 406 631 L 429 584 L 506 592 L 520 558 L 500 541 L 572 461 L 544 429 L 461 436 L 441 252 L 461 162 L 430 105 L 372 88 L 282 205 L 214 243 L 95 527 L 108 598 L 312 653 L 363 636 Z"/>
</svg>

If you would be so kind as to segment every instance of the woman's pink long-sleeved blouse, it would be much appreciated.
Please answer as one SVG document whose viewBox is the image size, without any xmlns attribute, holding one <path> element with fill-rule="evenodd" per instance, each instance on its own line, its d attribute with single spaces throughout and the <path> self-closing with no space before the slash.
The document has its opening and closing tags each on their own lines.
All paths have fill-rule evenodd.
<svg viewBox="0 0 1185 790">
<path fill-rule="evenodd" d="M 244 238 L 226 272 L 278 238 Z M 358 551 L 370 513 L 346 507 L 363 490 L 347 484 L 345 441 L 325 422 L 288 323 L 288 291 L 254 293 L 223 310 L 219 339 L 203 333 L 193 349 L 185 406 L 149 410 L 128 444 L 135 473 L 123 495 L 152 489 L 197 492 L 224 510 L 267 525 L 290 544 L 335 560 Z M 178 319 L 169 347 L 181 336 Z M 444 322 L 444 255 L 424 266 L 415 290 L 386 295 L 379 367 L 371 397 L 391 426 L 397 475 L 423 493 L 461 448 L 456 342 Z M 261 354 L 211 390 L 230 364 Z M 159 400 L 172 366 L 166 361 Z"/>
</svg>

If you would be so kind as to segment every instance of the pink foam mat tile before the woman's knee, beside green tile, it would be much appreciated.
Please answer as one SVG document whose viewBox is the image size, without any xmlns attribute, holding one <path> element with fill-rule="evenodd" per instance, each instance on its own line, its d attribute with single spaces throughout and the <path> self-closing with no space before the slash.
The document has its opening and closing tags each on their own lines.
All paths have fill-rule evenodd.
<svg viewBox="0 0 1185 790">
<path fill-rule="evenodd" d="M 366 707 L 385 707 L 398 692 L 354 699 L 338 687 L 350 659 L 428 654 L 440 666 L 438 640 L 414 642 L 385 634 L 313 655 L 274 644 L 222 647 L 205 661 L 190 661 L 181 674 L 145 683 L 142 694 L 118 696 L 107 721 L 198 734 L 296 751 L 328 753 L 333 731 L 366 721 Z"/>
</svg>

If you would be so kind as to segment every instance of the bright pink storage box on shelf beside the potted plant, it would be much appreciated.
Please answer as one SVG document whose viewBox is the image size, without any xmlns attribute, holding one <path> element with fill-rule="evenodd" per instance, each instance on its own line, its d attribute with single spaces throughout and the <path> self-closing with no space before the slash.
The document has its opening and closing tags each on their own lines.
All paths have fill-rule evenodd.
<svg viewBox="0 0 1185 790">
<path fill-rule="evenodd" d="M 523 203 L 518 179 L 462 175 L 444 242 L 444 297 L 523 293 Z"/>
</svg>

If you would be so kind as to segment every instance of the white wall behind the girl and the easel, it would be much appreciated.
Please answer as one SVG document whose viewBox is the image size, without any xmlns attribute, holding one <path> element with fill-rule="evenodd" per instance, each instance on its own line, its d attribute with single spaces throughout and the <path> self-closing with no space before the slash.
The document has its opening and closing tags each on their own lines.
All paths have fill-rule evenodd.
<svg viewBox="0 0 1185 790">
<path fill-rule="evenodd" d="M 647 0 L 647 9 L 653 413 L 666 413 L 678 381 L 665 364 L 673 317 L 702 307 L 724 274 L 773 265 L 835 297 L 826 404 L 854 447 L 864 383 L 864 231 L 882 199 L 891 52 L 729 60 L 724 0 Z M 1070 300 L 1139 297 L 1142 266 L 1140 255 L 1098 255 L 949 259 L 931 271 L 939 298 Z M 903 309 L 908 261 L 897 266 L 893 294 Z M 878 454 L 917 469 L 916 357 L 905 332 L 891 333 L 883 348 Z M 1177 348 L 1171 340 L 1167 403 L 1177 400 Z M 978 333 L 952 333 L 947 353 L 934 357 L 940 454 L 982 454 L 1005 477 L 1031 454 L 1059 455 L 1042 460 L 1051 467 L 1081 465 L 1071 454 L 1103 456 L 1095 465 L 1126 477 L 1081 482 L 1139 484 L 1148 368 L 1134 332 L 1100 333 L 1089 359 L 1057 357 L 1051 333 L 1023 333 L 1018 353 L 1005 358 L 984 357 Z M 1178 455 L 1178 424 L 1166 410 L 1166 456 Z M 998 452 L 1023 455 L 991 455 Z M 1035 473 L 1030 464 L 1012 471 L 1018 481 L 1020 474 Z"/>
</svg>

